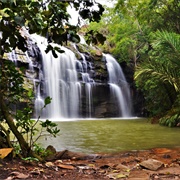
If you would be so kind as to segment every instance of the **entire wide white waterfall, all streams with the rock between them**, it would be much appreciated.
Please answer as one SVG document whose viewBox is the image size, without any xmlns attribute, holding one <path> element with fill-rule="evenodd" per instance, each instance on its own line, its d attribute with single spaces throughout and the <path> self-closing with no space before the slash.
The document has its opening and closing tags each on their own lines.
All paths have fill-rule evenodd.
<svg viewBox="0 0 180 180">
<path fill-rule="evenodd" d="M 64 53 L 57 52 L 58 57 L 54 58 L 51 52 L 45 53 L 46 38 L 34 34 L 30 39 L 38 46 L 33 50 L 34 54 L 40 51 L 36 61 L 34 56 L 28 56 L 31 52 L 24 53 L 23 57 L 29 64 L 26 76 L 34 84 L 36 117 L 60 120 L 131 116 L 129 86 L 112 56 L 104 54 L 98 60 L 92 59 L 88 53 L 80 53 L 74 45 L 81 58 L 77 59 L 70 49 L 61 46 Z M 9 54 L 9 59 L 15 63 L 21 61 L 19 57 L 16 51 Z M 47 96 L 52 102 L 42 111 Z"/>
</svg>

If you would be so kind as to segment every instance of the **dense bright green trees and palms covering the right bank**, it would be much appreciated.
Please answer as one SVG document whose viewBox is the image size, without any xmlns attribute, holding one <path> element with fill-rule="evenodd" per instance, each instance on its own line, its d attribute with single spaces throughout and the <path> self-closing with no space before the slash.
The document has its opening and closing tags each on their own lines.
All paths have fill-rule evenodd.
<svg viewBox="0 0 180 180">
<path fill-rule="evenodd" d="M 180 1 L 118 0 L 89 29 L 100 29 L 107 38 L 100 47 L 134 68 L 150 116 L 179 125 Z"/>
</svg>

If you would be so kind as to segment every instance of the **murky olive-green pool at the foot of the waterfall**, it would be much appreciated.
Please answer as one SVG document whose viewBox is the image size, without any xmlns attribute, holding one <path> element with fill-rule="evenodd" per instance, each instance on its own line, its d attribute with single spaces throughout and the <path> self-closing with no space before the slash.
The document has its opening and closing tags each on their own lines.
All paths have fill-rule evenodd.
<svg viewBox="0 0 180 180">
<path fill-rule="evenodd" d="M 44 147 L 83 153 L 112 153 L 180 146 L 180 128 L 135 120 L 79 120 L 58 122 L 60 136 L 41 138 Z"/>
</svg>

